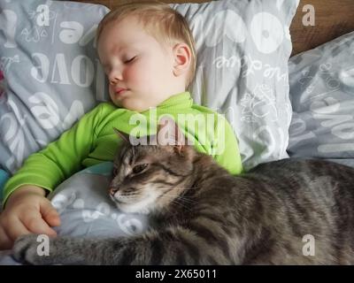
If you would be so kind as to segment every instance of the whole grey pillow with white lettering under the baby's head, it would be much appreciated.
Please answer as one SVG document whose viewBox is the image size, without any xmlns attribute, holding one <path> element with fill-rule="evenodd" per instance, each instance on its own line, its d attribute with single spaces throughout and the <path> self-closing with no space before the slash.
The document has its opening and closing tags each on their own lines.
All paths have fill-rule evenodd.
<svg viewBox="0 0 354 283">
<path fill-rule="evenodd" d="M 288 157 L 289 25 L 298 0 L 172 4 L 196 38 L 195 103 L 226 115 L 242 163 Z M 108 99 L 93 40 L 107 9 L 96 4 L 0 3 L 0 164 L 15 172 L 99 101 Z M 78 12 L 80 11 L 80 12 Z M 21 19 L 21 20 L 19 20 Z"/>
</svg>

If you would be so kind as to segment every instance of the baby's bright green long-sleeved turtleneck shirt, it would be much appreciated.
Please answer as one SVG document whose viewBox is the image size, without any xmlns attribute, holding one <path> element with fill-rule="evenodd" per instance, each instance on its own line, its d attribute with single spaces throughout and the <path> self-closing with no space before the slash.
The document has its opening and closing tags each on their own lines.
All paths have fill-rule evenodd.
<svg viewBox="0 0 354 283">
<path fill-rule="evenodd" d="M 57 141 L 27 158 L 5 184 L 3 203 L 20 186 L 35 185 L 51 191 L 84 167 L 112 161 L 121 142 L 113 127 L 139 137 L 156 134 L 158 117 L 165 114 L 172 116 L 197 151 L 212 155 L 231 174 L 242 172 L 235 134 L 227 119 L 194 104 L 189 92 L 184 92 L 140 113 L 100 103 Z"/>
</svg>

